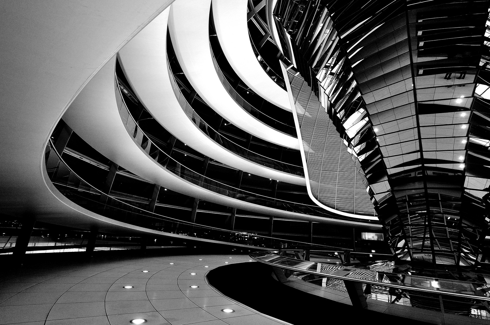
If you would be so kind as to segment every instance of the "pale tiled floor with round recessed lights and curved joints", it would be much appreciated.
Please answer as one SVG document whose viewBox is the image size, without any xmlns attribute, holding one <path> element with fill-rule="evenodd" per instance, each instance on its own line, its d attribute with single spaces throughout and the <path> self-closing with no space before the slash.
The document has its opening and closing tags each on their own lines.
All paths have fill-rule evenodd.
<svg viewBox="0 0 490 325">
<path fill-rule="evenodd" d="M 205 274 L 213 268 L 248 260 L 247 255 L 127 257 L 12 270 L 4 264 L 0 324 L 130 325 L 137 318 L 146 319 L 145 325 L 288 324 L 208 285 Z M 239 281 L 230 285 L 246 290 Z"/>
</svg>

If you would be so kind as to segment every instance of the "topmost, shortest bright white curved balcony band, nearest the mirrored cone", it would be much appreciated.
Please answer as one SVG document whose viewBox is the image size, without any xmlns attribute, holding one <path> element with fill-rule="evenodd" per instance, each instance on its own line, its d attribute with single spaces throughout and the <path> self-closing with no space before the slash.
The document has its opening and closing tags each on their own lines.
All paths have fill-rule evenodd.
<svg viewBox="0 0 490 325">
<path fill-rule="evenodd" d="M 247 0 L 213 0 L 216 34 L 223 53 L 248 87 L 272 104 L 292 111 L 288 92 L 270 79 L 253 52 L 246 7 Z"/>
</svg>

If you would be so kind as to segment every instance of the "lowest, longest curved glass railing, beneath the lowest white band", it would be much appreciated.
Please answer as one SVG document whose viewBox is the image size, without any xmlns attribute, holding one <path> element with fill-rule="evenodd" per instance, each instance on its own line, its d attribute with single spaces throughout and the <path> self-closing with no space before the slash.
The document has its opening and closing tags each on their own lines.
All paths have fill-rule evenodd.
<svg viewBox="0 0 490 325">
<path fill-rule="evenodd" d="M 46 147 L 45 159 L 49 179 L 62 195 L 65 195 L 73 203 L 104 217 L 134 226 L 188 236 L 190 238 L 218 240 L 255 248 L 281 247 L 281 245 L 285 244 L 291 247 L 311 245 L 310 243 L 300 241 L 273 238 L 255 233 L 231 231 L 186 222 L 146 211 L 147 204 L 145 203 L 138 205 L 126 203 L 114 196 L 103 193 L 98 188 L 83 180 L 66 164 L 59 152 L 56 151 L 51 140 L 49 140 L 48 146 Z M 330 248 L 330 246 L 324 245 L 314 246 Z"/>
</svg>

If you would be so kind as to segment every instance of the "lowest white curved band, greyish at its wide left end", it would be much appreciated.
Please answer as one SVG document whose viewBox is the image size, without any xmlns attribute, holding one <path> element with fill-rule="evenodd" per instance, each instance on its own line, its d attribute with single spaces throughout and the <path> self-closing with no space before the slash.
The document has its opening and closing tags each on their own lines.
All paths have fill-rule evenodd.
<svg viewBox="0 0 490 325">
<path fill-rule="evenodd" d="M 367 227 L 364 223 L 308 216 L 244 202 L 201 188 L 166 170 L 136 144 L 123 125 L 114 95 L 115 60 L 114 57 L 94 76 L 63 116 L 73 131 L 110 160 L 152 183 L 217 204 L 275 217 Z"/>
</svg>

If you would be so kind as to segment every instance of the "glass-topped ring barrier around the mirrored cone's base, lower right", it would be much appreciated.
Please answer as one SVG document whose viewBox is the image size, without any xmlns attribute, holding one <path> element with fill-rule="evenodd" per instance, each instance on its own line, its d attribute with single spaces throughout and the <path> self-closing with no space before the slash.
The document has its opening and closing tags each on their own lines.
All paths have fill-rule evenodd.
<svg viewBox="0 0 490 325">
<path fill-rule="evenodd" d="M 250 257 L 271 265 L 274 272 L 279 274 L 276 274 L 278 280 L 285 284 L 294 283 L 296 288 L 299 284 L 308 292 L 317 289 L 318 295 L 326 298 L 332 290 L 340 291 L 350 298 L 352 304 L 360 303 L 368 309 L 369 305 L 379 305 L 376 301 L 381 301 L 389 308 L 400 308 L 399 305 L 415 307 L 417 313 L 423 313 L 420 309 L 429 309 L 442 314 L 490 319 L 490 284 L 486 282 L 386 272 L 386 265 L 392 265 L 392 262 L 373 261 L 357 267 L 300 260 L 285 255 L 284 251 L 268 251 L 253 253 Z M 352 291 L 349 286 L 359 289 Z"/>
</svg>

